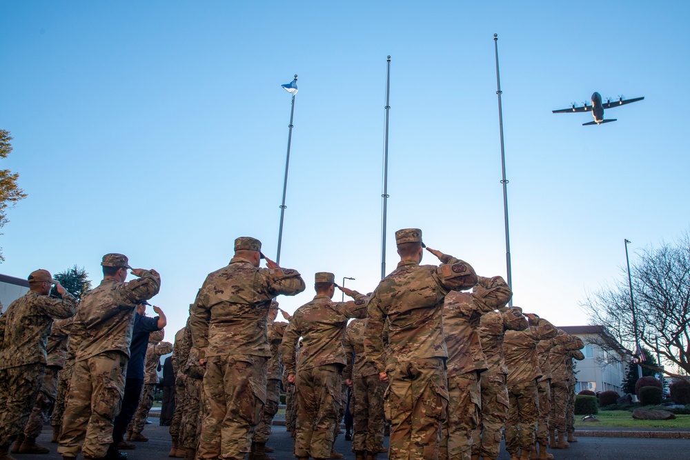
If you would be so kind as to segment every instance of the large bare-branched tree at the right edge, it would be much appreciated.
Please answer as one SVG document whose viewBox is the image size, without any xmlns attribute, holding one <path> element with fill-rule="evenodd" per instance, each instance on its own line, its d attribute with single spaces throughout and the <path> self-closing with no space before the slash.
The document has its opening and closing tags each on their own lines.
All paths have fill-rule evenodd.
<svg viewBox="0 0 690 460">
<path fill-rule="evenodd" d="M 640 343 L 662 360 L 690 373 L 690 234 L 638 252 L 631 261 L 633 304 Z M 601 325 L 619 343 L 635 350 L 635 326 L 627 270 L 613 286 L 604 286 L 581 304 L 592 324 Z M 642 368 L 686 378 L 648 361 Z"/>
</svg>

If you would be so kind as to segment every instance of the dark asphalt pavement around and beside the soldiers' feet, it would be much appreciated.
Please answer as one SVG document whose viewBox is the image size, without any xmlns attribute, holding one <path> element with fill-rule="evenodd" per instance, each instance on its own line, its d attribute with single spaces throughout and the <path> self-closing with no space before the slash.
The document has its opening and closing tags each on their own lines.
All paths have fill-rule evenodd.
<svg viewBox="0 0 690 460">
<path fill-rule="evenodd" d="M 152 425 L 147 425 L 144 434 L 150 438 L 148 442 L 136 443 L 136 450 L 128 450 L 129 460 L 170 460 L 168 452 L 172 446 L 167 426 L 159 426 L 158 420 L 152 418 Z M 50 443 L 52 430 L 49 426 L 43 428 L 38 439 L 41 446 L 49 446 L 50 454 L 20 455 L 12 454 L 17 460 L 61 460 L 57 454 L 57 444 Z M 386 438 L 386 445 L 388 438 Z M 274 426 L 273 434 L 268 446 L 275 448 L 271 454 L 277 460 L 293 460 L 293 440 L 283 426 Z M 345 455 L 345 459 L 354 460 L 351 443 L 345 441 L 341 434 L 335 441 L 335 449 Z M 647 460 L 673 459 L 690 460 L 690 439 L 639 439 L 639 438 L 603 438 L 580 437 L 569 449 L 554 449 L 555 460 Z M 379 458 L 386 459 L 386 454 Z M 502 450 L 499 460 L 509 460 L 509 455 Z M 79 457 L 81 459 L 81 457 Z"/>
</svg>

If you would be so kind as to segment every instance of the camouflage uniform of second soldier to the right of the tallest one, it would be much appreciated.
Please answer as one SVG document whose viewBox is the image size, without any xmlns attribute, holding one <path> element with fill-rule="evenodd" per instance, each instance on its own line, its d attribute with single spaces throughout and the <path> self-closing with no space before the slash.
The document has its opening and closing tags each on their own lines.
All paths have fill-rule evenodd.
<svg viewBox="0 0 690 460">
<path fill-rule="evenodd" d="M 482 315 L 480 339 L 488 369 L 482 372 L 482 410 L 480 423 L 472 432 L 472 454 L 486 460 L 496 459 L 501 447 L 503 427 L 508 419 L 508 368 L 503 355 L 506 330 L 524 330 L 527 319 L 519 308 L 501 308 Z"/>
</svg>

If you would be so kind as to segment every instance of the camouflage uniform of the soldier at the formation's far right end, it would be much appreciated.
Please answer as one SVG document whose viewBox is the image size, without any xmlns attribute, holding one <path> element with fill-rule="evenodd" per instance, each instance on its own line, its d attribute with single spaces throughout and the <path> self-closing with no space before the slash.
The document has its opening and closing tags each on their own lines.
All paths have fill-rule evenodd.
<svg viewBox="0 0 690 460">
<path fill-rule="evenodd" d="M 584 343 L 579 337 L 560 332 L 561 342 L 551 348 L 549 364 L 551 365 L 551 424 L 549 430 L 566 433 L 566 406 L 568 404 L 569 381 L 571 380 L 573 361 L 570 352 L 580 350 Z M 567 364 L 566 364 L 567 362 Z"/>
</svg>

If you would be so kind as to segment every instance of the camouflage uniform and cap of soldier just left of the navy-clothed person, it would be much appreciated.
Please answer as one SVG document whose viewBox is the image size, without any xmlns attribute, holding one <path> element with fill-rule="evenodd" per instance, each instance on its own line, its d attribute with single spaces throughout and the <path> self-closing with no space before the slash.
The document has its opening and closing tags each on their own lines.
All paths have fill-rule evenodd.
<svg viewBox="0 0 690 460">
<path fill-rule="evenodd" d="M 106 254 L 101 265 L 126 268 L 128 261 L 122 254 Z M 155 296 L 160 287 L 158 272 L 142 270 L 139 278 L 126 283 L 106 277 L 81 300 L 72 333 L 83 338 L 57 449 L 63 458 L 77 457 L 80 447 L 85 458 L 105 456 L 124 393 L 137 304 Z"/>
</svg>

